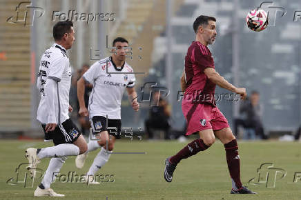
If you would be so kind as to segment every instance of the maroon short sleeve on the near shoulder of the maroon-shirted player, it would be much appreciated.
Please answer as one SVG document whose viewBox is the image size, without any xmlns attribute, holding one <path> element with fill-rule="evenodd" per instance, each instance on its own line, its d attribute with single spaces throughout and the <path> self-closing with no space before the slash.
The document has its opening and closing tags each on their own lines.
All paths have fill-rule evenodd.
<svg viewBox="0 0 301 200">
<path fill-rule="evenodd" d="M 204 71 L 206 68 L 214 68 L 213 57 L 211 57 L 211 52 L 204 46 L 195 46 L 193 49 L 194 61 L 193 63 L 197 65 L 200 70 Z"/>
</svg>

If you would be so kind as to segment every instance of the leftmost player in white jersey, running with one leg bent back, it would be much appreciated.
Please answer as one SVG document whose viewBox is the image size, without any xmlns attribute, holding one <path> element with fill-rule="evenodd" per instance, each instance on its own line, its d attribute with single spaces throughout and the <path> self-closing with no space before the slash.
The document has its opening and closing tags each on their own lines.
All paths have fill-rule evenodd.
<svg viewBox="0 0 301 200">
<path fill-rule="evenodd" d="M 28 170 L 35 177 L 35 169 L 41 159 L 51 157 L 41 184 L 34 196 L 64 197 L 50 188 L 66 157 L 82 154 L 87 150 L 87 143 L 78 128 L 69 119 L 72 112 L 69 105 L 71 70 L 66 50 L 75 41 L 73 23 L 60 21 L 53 27 L 55 43 L 46 50 L 40 61 L 37 88 L 41 93 L 41 101 L 37 111 L 37 120 L 45 133 L 45 140 L 53 140 L 55 146 L 48 148 L 28 148 L 26 157 L 30 165 Z"/>
</svg>

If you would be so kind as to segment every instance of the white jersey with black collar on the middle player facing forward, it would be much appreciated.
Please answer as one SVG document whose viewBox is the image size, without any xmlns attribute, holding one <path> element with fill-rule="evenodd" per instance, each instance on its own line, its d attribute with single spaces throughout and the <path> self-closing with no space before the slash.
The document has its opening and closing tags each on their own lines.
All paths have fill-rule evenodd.
<svg viewBox="0 0 301 200">
<path fill-rule="evenodd" d="M 86 81 L 93 84 L 88 106 L 90 119 L 107 115 L 108 119 L 121 119 L 124 90 L 135 85 L 133 72 L 133 68 L 126 62 L 122 68 L 117 68 L 111 57 L 101 59 L 90 67 L 83 75 Z"/>
</svg>

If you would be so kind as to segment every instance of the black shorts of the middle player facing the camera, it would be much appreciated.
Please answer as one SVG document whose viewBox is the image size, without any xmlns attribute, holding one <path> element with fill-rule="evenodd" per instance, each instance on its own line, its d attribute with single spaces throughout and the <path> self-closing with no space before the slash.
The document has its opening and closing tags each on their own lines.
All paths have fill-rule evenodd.
<svg viewBox="0 0 301 200">
<path fill-rule="evenodd" d="M 113 135 L 116 139 L 121 138 L 122 120 L 121 119 L 107 119 L 103 116 L 94 116 L 90 120 L 93 132 L 108 131 L 108 134 Z"/>
</svg>

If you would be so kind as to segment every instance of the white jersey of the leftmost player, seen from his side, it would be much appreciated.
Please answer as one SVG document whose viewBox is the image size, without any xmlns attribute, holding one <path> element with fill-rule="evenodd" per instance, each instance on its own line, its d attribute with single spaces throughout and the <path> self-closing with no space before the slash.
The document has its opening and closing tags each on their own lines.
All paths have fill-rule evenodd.
<svg viewBox="0 0 301 200">
<path fill-rule="evenodd" d="M 71 68 L 66 49 L 54 43 L 46 50 L 40 61 L 37 88 L 41 92 L 41 101 L 37 110 L 37 120 L 48 123 L 48 115 L 54 112 L 56 121 L 63 123 L 69 119 L 69 90 L 71 85 Z M 55 110 L 49 110 L 46 102 L 45 86 L 49 79 L 57 81 L 57 97 L 55 97 Z"/>
</svg>

